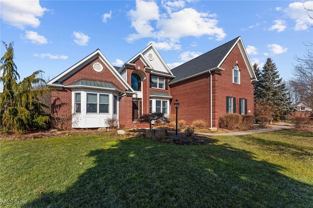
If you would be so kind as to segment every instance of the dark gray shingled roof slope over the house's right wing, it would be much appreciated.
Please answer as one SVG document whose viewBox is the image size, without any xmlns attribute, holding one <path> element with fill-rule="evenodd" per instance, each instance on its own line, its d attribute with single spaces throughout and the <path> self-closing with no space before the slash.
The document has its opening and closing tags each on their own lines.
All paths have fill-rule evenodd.
<svg viewBox="0 0 313 208">
<path fill-rule="evenodd" d="M 237 37 L 230 42 L 226 42 L 225 44 L 172 69 L 171 71 L 175 78 L 170 83 L 177 82 L 179 80 L 217 67 L 239 38 L 240 37 Z"/>
</svg>

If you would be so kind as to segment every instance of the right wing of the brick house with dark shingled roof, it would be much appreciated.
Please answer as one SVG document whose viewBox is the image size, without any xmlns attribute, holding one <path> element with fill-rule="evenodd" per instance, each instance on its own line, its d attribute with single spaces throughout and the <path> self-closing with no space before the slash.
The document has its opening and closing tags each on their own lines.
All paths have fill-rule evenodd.
<svg viewBox="0 0 313 208">
<path fill-rule="evenodd" d="M 257 79 L 241 37 L 172 69 L 172 73 L 176 77 L 169 83 L 171 95 L 179 99 L 179 119 L 187 125 L 203 119 L 210 127 L 219 127 L 225 113 L 253 115 L 253 82 Z"/>
</svg>

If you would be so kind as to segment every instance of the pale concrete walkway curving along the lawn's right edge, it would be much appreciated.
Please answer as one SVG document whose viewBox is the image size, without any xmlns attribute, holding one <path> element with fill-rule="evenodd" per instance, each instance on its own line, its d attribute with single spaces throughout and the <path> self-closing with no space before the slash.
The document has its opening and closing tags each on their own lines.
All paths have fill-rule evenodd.
<svg viewBox="0 0 313 208">
<path fill-rule="evenodd" d="M 234 132 L 228 132 L 228 133 L 200 133 L 200 132 L 195 132 L 195 134 L 201 134 L 201 135 L 207 135 L 207 136 L 238 136 L 238 135 L 262 133 L 262 132 L 267 132 L 267 131 L 289 129 L 289 128 L 293 128 L 293 126 L 290 124 L 287 124 L 285 122 L 279 122 L 279 123 L 275 123 L 274 125 L 267 125 L 266 128 L 260 128 L 260 129 L 254 129 L 254 130 L 234 131 Z"/>
</svg>

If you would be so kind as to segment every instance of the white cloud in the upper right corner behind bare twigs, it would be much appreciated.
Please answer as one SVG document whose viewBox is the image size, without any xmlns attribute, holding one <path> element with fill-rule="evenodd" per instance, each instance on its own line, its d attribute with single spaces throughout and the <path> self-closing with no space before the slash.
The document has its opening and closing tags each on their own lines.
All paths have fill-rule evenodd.
<svg viewBox="0 0 313 208">
<path fill-rule="evenodd" d="M 310 18 L 304 7 L 312 9 L 313 1 L 293 2 L 285 9 L 286 15 L 295 21 L 294 30 L 306 30 L 309 28 L 309 25 L 313 24 L 313 19 Z M 311 12 L 311 17 L 312 14 Z"/>
</svg>

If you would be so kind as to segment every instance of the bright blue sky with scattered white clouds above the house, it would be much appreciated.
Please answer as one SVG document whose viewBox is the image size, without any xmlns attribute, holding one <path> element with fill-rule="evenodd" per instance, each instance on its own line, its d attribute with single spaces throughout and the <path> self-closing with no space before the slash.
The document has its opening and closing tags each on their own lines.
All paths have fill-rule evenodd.
<svg viewBox="0 0 313 208">
<path fill-rule="evenodd" d="M 121 66 L 150 42 L 174 68 L 238 36 L 252 64 L 270 57 L 289 80 L 294 56 L 313 42 L 304 5 L 313 9 L 294 0 L 0 0 L 0 37 L 14 42 L 21 80 L 36 70 L 52 79 L 97 48 Z"/>
</svg>

